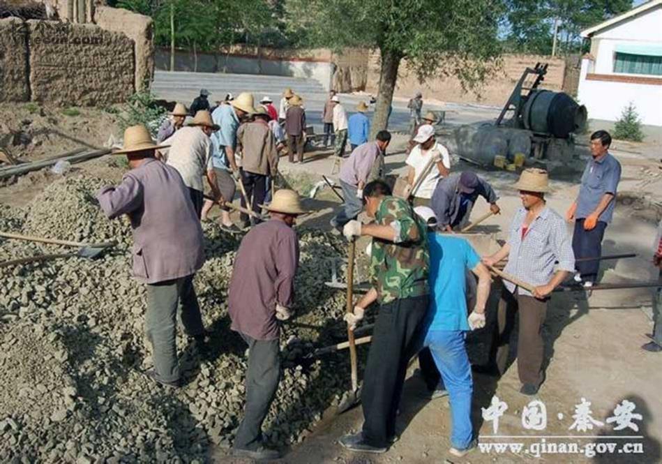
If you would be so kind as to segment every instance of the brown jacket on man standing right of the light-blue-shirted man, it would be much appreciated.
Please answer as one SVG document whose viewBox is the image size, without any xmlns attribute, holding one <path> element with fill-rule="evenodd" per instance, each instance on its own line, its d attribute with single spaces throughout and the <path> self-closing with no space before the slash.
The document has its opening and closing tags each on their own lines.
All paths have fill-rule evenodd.
<svg viewBox="0 0 662 464">
<path fill-rule="evenodd" d="M 263 176 L 276 175 L 278 149 L 269 124 L 264 121 L 241 124 L 236 131 L 236 142 L 241 149 L 244 171 Z"/>
</svg>

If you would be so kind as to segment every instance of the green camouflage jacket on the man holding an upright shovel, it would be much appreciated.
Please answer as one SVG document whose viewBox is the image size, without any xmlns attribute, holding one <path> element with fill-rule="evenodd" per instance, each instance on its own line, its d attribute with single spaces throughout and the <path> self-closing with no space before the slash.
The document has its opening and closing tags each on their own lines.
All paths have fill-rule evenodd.
<svg viewBox="0 0 662 464">
<path fill-rule="evenodd" d="M 429 293 L 426 225 L 400 198 L 385 197 L 375 219 L 398 232 L 398 243 L 373 239 L 370 271 L 379 304 Z"/>
</svg>

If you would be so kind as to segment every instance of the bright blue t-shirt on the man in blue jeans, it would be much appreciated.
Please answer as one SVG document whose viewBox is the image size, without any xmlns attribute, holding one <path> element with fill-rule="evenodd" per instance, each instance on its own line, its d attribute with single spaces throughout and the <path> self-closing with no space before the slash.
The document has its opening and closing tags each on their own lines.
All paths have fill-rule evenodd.
<svg viewBox="0 0 662 464">
<path fill-rule="evenodd" d="M 467 269 L 481 261 L 466 239 L 431 232 L 428 330 L 470 330 L 467 322 Z"/>
</svg>

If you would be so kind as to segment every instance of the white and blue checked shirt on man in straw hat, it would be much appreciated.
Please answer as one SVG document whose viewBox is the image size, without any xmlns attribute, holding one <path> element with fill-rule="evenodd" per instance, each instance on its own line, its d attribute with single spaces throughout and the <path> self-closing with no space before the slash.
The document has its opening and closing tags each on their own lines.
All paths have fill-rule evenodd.
<svg viewBox="0 0 662 464">
<path fill-rule="evenodd" d="M 522 239 L 522 223 L 526 216 L 527 210 L 522 207 L 513 218 L 508 237 L 511 249 L 504 272 L 536 287 L 549 283 L 555 272 L 555 262 L 559 263 L 557 270 L 573 272 L 575 255 L 563 218 L 556 211 L 545 207 L 529 225 L 529 230 Z M 510 292 L 515 292 L 515 284 L 504 284 Z M 518 292 L 532 296 L 523 288 L 519 288 Z"/>
</svg>

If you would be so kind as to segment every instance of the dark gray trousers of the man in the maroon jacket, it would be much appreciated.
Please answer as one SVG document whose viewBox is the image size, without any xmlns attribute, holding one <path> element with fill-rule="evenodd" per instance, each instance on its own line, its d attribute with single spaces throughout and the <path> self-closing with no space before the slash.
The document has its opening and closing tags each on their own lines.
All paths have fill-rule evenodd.
<svg viewBox="0 0 662 464">
<path fill-rule="evenodd" d="M 256 451 L 262 445 L 262 422 L 280 382 L 280 344 L 278 340 L 255 340 L 241 334 L 248 344 L 246 371 L 246 408 L 236 431 L 234 448 Z"/>
</svg>

